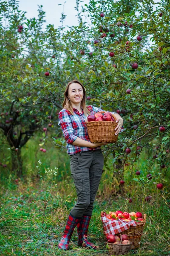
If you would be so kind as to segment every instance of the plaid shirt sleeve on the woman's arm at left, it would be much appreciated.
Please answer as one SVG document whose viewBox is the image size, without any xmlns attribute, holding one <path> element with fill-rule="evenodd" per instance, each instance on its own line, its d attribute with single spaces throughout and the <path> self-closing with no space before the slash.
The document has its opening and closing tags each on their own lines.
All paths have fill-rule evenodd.
<svg viewBox="0 0 170 256">
<path fill-rule="evenodd" d="M 66 111 L 59 112 L 58 125 L 60 125 L 62 129 L 62 133 L 66 142 L 70 144 L 74 143 L 74 141 L 77 139 L 77 136 L 74 135 L 74 128 L 72 126 L 71 118 Z"/>
</svg>

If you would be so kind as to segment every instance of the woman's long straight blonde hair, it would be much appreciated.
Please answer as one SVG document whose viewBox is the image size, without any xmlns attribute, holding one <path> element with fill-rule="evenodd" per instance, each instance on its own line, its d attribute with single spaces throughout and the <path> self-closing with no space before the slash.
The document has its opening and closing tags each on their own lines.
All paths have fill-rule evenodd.
<svg viewBox="0 0 170 256">
<path fill-rule="evenodd" d="M 73 84 L 73 83 L 77 83 L 77 84 L 80 84 L 81 87 L 82 87 L 82 90 L 83 90 L 83 98 L 82 98 L 82 101 L 81 101 L 81 107 L 83 109 L 83 112 L 85 114 L 85 116 L 88 116 L 91 114 L 91 112 L 88 110 L 86 104 L 85 104 L 85 87 L 82 85 L 81 82 L 77 81 L 77 80 L 73 80 L 71 82 L 69 82 L 65 88 L 65 92 L 64 92 L 64 101 L 62 103 L 62 107 L 67 109 L 72 115 L 74 115 L 74 111 L 73 111 L 73 107 L 71 105 L 71 102 L 70 100 L 68 99 L 68 88 L 69 88 L 69 85 L 70 84 Z"/>
</svg>

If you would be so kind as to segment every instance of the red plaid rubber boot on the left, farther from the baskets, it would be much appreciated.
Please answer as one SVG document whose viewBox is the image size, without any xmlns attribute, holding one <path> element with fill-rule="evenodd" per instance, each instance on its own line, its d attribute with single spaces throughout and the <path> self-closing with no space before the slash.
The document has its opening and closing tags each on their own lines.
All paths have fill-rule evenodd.
<svg viewBox="0 0 170 256">
<path fill-rule="evenodd" d="M 77 226 L 80 220 L 81 218 L 74 218 L 71 214 L 69 214 L 64 234 L 58 244 L 59 249 L 68 250 L 68 244 L 73 234 L 74 228 Z"/>
</svg>

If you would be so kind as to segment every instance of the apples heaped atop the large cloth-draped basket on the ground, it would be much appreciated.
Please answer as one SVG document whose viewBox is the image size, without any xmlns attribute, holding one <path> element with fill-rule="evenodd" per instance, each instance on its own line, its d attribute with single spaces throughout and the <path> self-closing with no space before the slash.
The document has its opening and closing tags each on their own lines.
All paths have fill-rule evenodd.
<svg viewBox="0 0 170 256">
<path fill-rule="evenodd" d="M 141 212 L 122 212 L 122 211 L 116 211 L 116 212 L 109 212 L 107 214 L 106 212 L 103 212 L 103 215 L 110 219 L 111 221 L 117 221 L 117 220 L 124 220 L 124 221 L 143 221 L 143 216 Z"/>
</svg>

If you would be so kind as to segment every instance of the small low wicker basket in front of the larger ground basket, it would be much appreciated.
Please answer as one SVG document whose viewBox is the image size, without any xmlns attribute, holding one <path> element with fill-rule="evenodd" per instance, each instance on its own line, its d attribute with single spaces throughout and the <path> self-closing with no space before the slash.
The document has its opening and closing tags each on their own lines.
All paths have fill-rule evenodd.
<svg viewBox="0 0 170 256">
<path fill-rule="evenodd" d="M 108 250 L 110 255 L 125 255 L 131 249 L 131 244 L 111 244 L 108 243 Z"/>
</svg>

